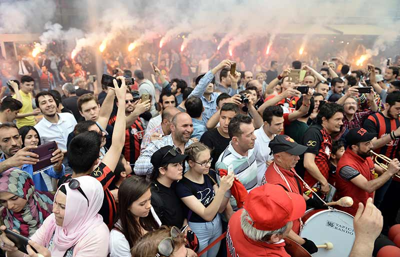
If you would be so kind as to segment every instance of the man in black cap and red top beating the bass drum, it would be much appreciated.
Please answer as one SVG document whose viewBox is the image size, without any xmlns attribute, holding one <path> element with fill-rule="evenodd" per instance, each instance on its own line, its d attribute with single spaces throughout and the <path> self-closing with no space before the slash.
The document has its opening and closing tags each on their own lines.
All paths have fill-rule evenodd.
<svg viewBox="0 0 400 257">
<path fill-rule="evenodd" d="M 299 155 L 303 154 L 307 147 L 296 143 L 288 135 L 276 135 L 269 142 L 269 148 L 273 153 L 274 160 L 266 169 L 262 184 L 277 184 L 288 192 L 302 195 L 306 205 L 309 207 L 316 209 L 327 208 L 318 198 L 310 198 L 304 194 L 306 189 L 294 170 L 294 166 L 300 159 Z M 292 229 L 289 231 L 287 237 L 300 244 L 309 253 L 318 251 L 313 241 L 301 238 L 298 235 L 300 232 L 300 223 L 300 219 L 293 220 Z"/>
</svg>

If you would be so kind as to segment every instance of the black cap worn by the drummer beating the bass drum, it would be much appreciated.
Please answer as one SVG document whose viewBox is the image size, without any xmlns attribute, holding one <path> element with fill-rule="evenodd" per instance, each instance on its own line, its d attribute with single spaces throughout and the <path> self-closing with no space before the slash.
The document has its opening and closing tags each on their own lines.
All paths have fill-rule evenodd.
<svg viewBox="0 0 400 257">
<path fill-rule="evenodd" d="M 305 152 L 307 146 L 296 143 L 288 135 L 278 134 L 269 142 L 269 148 L 271 148 L 272 153 L 285 151 L 293 155 L 301 155 Z"/>
</svg>

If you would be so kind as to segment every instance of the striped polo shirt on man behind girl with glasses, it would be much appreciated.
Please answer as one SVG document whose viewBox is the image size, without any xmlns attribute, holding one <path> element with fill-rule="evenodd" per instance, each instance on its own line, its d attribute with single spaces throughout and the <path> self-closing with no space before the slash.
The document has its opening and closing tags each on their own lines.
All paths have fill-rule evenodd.
<svg viewBox="0 0 400 257">
<path fill-rule="evenodd" d="M 247 192 L 257 186 L 257 163 L 255 161 L 253 149 L 248 150 L 247 156 L 242 156 L 233 149 L 232 142 L 230 141 L 226 149 L 219 155 L 215 163 L 215 170 L 218 171 L 219 168 L 227 169 L 230 164 L 233 165 L 233 172 L 247 189 Z M 230 197 L 230 205 L 232 205 L 233 210 L 236 211 L 238 209 L 236 200 L 232 196 L 230 190 L 226 191 L 225 197 Z"/>
</svg>

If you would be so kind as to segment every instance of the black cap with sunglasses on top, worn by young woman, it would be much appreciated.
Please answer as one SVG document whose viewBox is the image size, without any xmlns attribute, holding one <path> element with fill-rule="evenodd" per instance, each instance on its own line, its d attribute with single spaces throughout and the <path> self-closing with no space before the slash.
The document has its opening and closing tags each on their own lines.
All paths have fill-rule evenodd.
<svg viewBox="0 0 400 257">
<path fill-rule="evenodd" d="M 150 162 L 153 164 L 154 169 L 158 169 L 163 164 L 179 163 L 187 158 L 186 154 L 181 154 L 180 148 L 167 145 L 156 150 L 151 155 Z"/>
</svg>

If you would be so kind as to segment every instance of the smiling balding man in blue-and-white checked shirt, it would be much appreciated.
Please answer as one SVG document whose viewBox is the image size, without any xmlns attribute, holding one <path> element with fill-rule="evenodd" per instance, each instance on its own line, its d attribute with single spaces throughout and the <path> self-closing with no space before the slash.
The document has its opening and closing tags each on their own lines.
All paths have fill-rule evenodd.
<svg viewBox="0 0 400 257">
<path fill-rule="evenodd" d="M 155 151 L 166 145 L 172 145 L 174 148 L 179 148 L 180 152 L 193 143 L 190 140 L 193 133 L 193 122 L 191 117 L 186 112 L 176 113 L 170 123 L 171 133 L 163 136 L 159 140 L 151 141 L 144 151 L 141 152 L 139 158 L 134 163 L 133 172 L 136 175 L 151 176 L 153 165 L 150 162 L 151 156 Z M 184 170 L 188 170 L 188 164 L 184 163 Z"/>
</svg>

